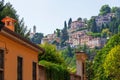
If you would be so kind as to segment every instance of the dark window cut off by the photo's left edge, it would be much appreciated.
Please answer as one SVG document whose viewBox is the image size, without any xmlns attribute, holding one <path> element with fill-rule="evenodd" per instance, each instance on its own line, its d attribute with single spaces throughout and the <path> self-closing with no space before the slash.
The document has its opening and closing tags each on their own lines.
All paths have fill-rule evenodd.
<svg viewBox="0 0 120 80">
<path fill-rule="evenodd" d="M 0 50 L 0 80 L 4 80 L 4 51 Z"/>
</svg>

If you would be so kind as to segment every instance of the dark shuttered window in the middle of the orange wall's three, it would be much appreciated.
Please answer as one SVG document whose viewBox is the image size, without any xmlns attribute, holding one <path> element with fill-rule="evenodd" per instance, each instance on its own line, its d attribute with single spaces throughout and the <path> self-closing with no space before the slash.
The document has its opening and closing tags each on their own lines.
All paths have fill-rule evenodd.
<svg viewBox="0 0 120 80">
<path fill-rule="evenodd" d="M 23 68 L 23 58 L 18 57 L 17 58 L 17 80 L 23 80 L 22 79 L 22 68 Z"/>
</svg>

